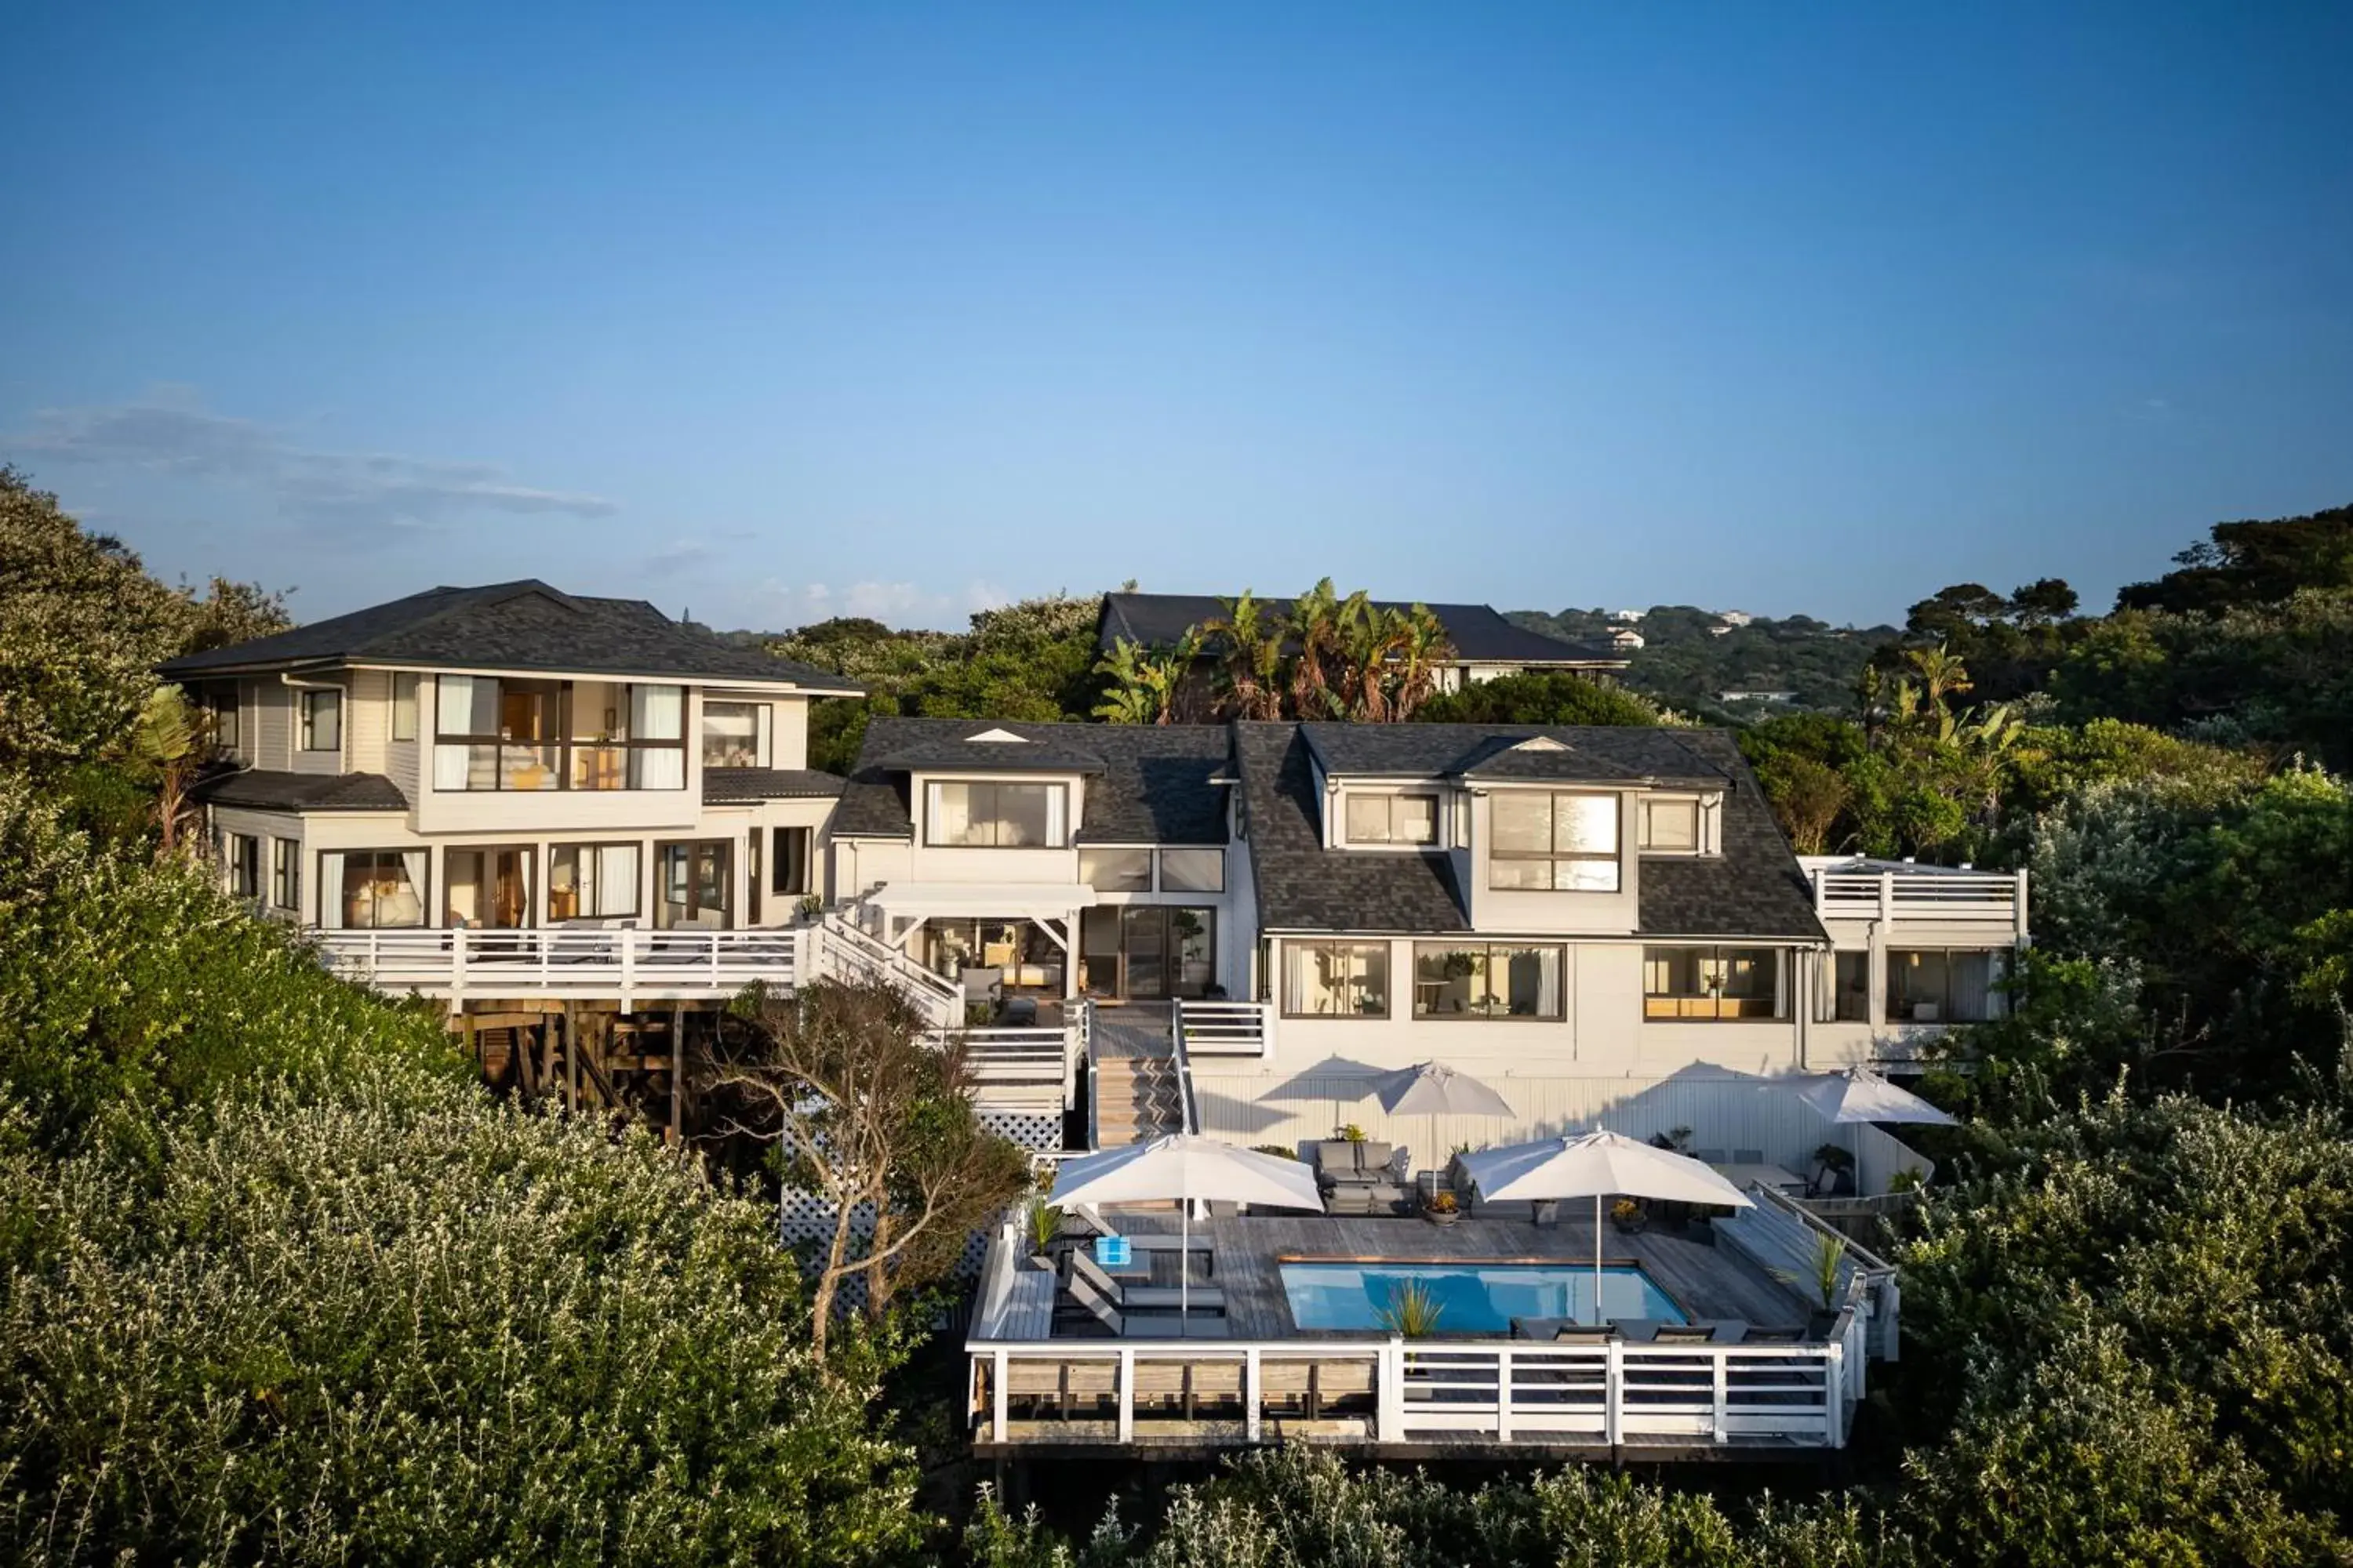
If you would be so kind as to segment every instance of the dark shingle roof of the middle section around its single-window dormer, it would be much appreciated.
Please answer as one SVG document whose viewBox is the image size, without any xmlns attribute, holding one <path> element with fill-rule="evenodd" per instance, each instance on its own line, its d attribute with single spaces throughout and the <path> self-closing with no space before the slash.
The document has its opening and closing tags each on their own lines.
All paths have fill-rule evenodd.
<svg viewBox="0 0 2353 1568">
<path fill-rule="evenodd" d="M 1033 755 L 1085 757 L 1096 778 L 1087 783 L 1080 844 L 1224 844 L 1226 790 L 1209 783 L 1226 769 L 1221 724 L 1021 724 L 1009 719 L 873 719 L 849 773 L 842 804 L 833 813 L 835 837 L 904 839 L 908 816 L 906 757 L 960 755 L 972 736 L 1002 729 L 1040 748 Z M 979 762 L 927 766 L 1014 769 L 1007 762 L 1028 748 L 981 741 Z M 1080 771 L 1075 764 L 1068 771 Z"/>
</svg>

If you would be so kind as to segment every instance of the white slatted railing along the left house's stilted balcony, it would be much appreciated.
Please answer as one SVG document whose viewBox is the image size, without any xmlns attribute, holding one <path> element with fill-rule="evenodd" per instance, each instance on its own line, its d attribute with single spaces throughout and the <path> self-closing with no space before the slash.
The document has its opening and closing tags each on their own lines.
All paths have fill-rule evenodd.
<svg viewBox="0 0 2353 1568">
<path fill-rule="evenodd" d="M 734 994 L 753 980 L 795 985 L 800 931 L 315 931 L 320 959 L 346 980 L 426 997 Z"/>
</svg>

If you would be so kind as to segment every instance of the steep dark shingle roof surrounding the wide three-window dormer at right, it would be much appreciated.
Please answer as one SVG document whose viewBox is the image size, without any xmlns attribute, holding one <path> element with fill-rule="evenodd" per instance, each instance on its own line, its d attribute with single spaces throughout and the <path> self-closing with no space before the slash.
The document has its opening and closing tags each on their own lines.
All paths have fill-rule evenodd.
<svg viewBox="0 0 2353 1568">
<path fill-rule="evenodd" d="M 1341 757 L 1360 773 L 1447 776 L 1449 764 L 1489 771 L 1489 743 L 1532 733 L 1574 757 L 1591 780 L 1713 780 L 1725 790 L 1722 853 L 1708 858 L 1645 856 L 1640 936 L 1762 936 L 1828 940 L 1814 919 L 1798 858 L 1772 820 L 1765 792 L 1727 731 L 1598 729 L 1487 724 L 1235 724 L 1249 863 L 1259 919 L 1275 931 L 1466 931 L 1461 889 L 1445 856 L 1351 853 L 1325 849 L 1318 827 L 1315 752 Z M 1617 773 L 1602 773 L 1602 766 Z M 1551 778 L 1553 773 L 1544 773 Z"/>
</svg>

